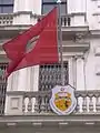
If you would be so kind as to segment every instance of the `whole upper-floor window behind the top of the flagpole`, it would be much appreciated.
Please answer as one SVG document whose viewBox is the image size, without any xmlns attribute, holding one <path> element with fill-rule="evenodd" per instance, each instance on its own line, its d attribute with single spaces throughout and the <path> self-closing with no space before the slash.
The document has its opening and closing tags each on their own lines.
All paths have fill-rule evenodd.
<svg viewBox="0 0 100 133">
<path fill-rule="evenodd" d="M 56 0 L 42 0 L 42 13 L 49 12 L 57 6 Z M 67 13 L 67 0 L 61 0 L 61 14 Z"/>
</svg>

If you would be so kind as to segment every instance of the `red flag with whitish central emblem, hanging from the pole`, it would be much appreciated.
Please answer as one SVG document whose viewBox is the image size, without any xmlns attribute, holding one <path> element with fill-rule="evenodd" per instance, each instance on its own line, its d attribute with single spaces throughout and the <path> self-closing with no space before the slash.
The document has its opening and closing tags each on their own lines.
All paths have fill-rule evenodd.
<svg viewBox="0 0 100 133">
<path fill-rule="evenodd" d="M 57 27 L 54 8 L 29 30 L 4 43 L 3 49 L 10 59 L 6 75 L 27 66 L 59 62 Z"/>
</svg>

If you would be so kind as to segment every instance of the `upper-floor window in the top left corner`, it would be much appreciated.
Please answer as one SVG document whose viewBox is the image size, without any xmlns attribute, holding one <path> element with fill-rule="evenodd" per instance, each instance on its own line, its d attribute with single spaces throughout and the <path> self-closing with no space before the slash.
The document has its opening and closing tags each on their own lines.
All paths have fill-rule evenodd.
<svg viewBox="0 0 100 133">
<path fill-rule="evenodd" d="M 13 0 L 0 0 L 0 13 L 13 12 Z"/>
</svg>

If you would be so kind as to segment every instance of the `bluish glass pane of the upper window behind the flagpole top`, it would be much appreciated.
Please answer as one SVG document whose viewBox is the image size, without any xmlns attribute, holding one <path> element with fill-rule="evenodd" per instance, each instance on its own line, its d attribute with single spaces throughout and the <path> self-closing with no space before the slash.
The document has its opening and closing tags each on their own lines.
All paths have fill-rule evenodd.
<svg viewBox="0 0 100 133">
<path fill-rule="evenodd" d="M 48 13 L 54 7 L 56 7 L 56 4 L 43 4 L 42 6 L 42 13 Z M 61 4 L 61 14 L 66 14 L 66 13 L 67 13 L 67 4 Z"/>
</svg>

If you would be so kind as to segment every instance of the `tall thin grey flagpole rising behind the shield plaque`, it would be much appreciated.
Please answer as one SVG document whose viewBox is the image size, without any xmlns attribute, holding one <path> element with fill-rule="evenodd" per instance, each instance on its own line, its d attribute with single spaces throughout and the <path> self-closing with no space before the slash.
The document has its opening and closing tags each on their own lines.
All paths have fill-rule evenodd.
<svg viewBox="0 0 100 133">
<path fill-rule="evenodd" d="M 61 63 L 61 84 L 64 85 L 63 57 L 62 57 L 62 31 L 61 31 L 61 0 L 58 3 L 58 45 L 60 48 L 60 63 Z"/>
</svg>

